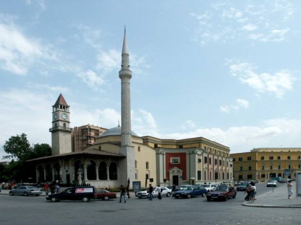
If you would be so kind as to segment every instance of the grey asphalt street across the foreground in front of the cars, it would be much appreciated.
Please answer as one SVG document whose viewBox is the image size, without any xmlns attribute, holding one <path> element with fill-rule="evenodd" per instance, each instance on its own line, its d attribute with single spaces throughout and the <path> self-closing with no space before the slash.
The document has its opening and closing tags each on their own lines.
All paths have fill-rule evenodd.
<svg viewBox="0 0 301 225">
<path fill-rule="evenodd" d="M 257 184 L 257 196 L 270 191 Z M 286 195 L 286 193 L 284 193 Z M 205 197 L 162 200 L 47 202 L 43 196 L 0 195 L 0 225 L 300 225 L 300 209 L 244 207 L 244 192 L 227 202 Z M 263 195 L 262 197 L 265 197 Z"/>
</svg>

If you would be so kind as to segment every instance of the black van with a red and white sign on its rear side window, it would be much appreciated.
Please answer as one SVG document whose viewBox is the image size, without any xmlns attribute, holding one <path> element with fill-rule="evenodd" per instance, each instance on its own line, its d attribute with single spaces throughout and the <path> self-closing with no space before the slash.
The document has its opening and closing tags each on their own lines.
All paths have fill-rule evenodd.
<svg viewBox="0 0 301 225">
<path fill-rule="evenodd" d="M 96 197 L 94 186 L 75 186 L 57 194 L 48 195 L 46 200 L 50 200 L 51 202 L 58 202 L 61 200 L 82 200 L 83 202 L 88 202 L 90 199 Z"/>
</svg>

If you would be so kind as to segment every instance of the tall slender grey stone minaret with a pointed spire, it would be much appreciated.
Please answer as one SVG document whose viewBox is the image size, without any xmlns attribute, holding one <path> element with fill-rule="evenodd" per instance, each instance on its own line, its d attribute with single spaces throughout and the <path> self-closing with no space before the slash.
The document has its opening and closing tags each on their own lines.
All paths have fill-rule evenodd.
<svg viewBox="0 0 301 225">
<path fill-rule="evenodd" d="M 127 180 L 132 182 L 135 178 L 135 156 L 134 147 L 132 144 L 131 132 L 131 91 L 130 80 L 132 78 L 132 71 L 130 70 L 130 60 L 128 53 L 128 45 L 126 40 L 126 30 L 124 28 L 124 38 L 122 46 L 122 60 L 121 70 L 119 71 L 119 78 L 121 79 L 121 147 L 120 154 L 125 155 L 126 158 L 122 160 L 120 167 L 120 181 L 121 184 L 126 185 Z M 130 184 L 130 186 L 132 186 Z"/>
</svg>

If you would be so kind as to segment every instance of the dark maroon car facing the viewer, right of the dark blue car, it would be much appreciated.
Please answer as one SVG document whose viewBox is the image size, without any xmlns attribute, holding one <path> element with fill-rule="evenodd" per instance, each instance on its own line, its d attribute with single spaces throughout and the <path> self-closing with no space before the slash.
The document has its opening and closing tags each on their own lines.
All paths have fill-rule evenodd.
<svg viewBox="0 0 301 225">
<path fill-rule="evenodd" d="M 207 201 L 212 199 L 222 199 L 227 201 L 230 197 L 236 197 L 236 190 L 233 186 L 219 185 L 212 192 L 207 193 Z"/>
</svg>

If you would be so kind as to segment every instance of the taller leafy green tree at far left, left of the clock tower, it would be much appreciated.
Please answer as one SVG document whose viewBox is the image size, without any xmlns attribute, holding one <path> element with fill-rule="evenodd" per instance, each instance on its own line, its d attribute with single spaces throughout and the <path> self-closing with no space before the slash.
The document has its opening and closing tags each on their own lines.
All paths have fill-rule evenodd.
<svg viewBox="0 0 301 225">
<path fill-rule="evenodd" d="M 18 161 L 26 161 L 32 150 L 27 135 L 24 133 L 11 136 L 8 141 L 5 141 L 3 149 L 9 154 L 3 156 L 4 159 L 17 158 Z"/>
</svg>

